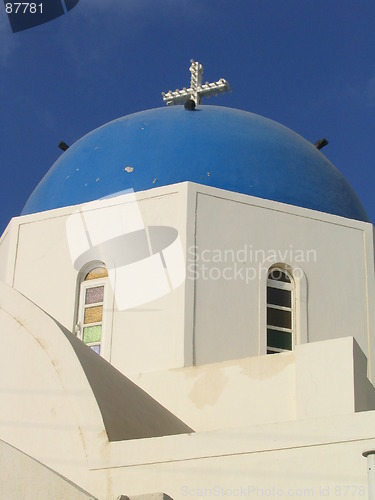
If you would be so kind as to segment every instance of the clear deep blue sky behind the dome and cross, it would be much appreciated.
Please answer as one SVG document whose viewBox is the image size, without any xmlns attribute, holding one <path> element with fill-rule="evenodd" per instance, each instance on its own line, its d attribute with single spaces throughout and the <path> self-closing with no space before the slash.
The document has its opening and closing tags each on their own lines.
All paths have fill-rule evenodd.
<svg viewBox="0 0 375 500">
<path fill-rule="evenodd" d="M 46 1 L 46 0 L 44 0 Z M 218 104 L 315 142 L 375 221 L 374 0 L 80 0 L 12 33 L 0 5 L 0 234 L 68 144 L 120 116 L 226 78 Z"/>
</svg>

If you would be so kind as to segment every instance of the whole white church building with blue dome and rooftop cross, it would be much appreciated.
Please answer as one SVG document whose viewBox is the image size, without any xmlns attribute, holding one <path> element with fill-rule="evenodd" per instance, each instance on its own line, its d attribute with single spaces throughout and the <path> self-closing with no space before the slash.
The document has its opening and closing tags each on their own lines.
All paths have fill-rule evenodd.
<svg viewBox="0 0 375 500">
<path fill-rule="evenodd" d="M 190 106 L 77 141 L 0 239 L 1 499 L 375 498 L 373 226 L 190 70 Z"/>
</svg>

